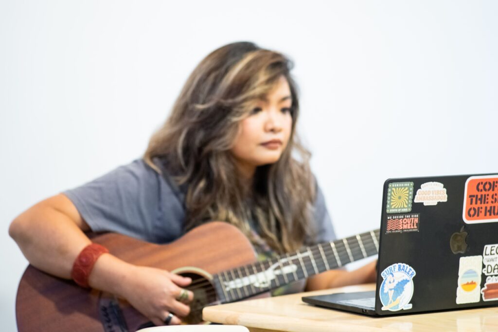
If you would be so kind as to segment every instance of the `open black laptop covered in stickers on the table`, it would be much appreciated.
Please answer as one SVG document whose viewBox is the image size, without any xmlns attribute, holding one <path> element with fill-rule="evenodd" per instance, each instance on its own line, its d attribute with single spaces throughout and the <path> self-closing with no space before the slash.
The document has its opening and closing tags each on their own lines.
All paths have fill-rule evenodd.
<svg viewBox="0 0 498 332">
<path fill-rule="evenodd" d="M 375 291 L 302 300 L 370 316 L 498 305 L 498 174 L 387 180 Z"/>
</svg>

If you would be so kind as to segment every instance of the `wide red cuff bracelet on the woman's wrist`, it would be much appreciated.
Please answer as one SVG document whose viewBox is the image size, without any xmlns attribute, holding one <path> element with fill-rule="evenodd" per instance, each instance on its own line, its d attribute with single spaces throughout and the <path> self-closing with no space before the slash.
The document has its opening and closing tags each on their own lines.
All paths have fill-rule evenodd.
<svg viewBox="0 0 498 332">
<path fill-rule="evenodd" d="M 100 244 L 91 243 L 87 245 L 81 250 L 73 263 L 71 278 L 81 287 L 89 288 L 88 278 L 90 277 L 90 273 L 92 273 L 95 262 L 100 255 L 107 252 L 109 250 Z"/>
</svg>

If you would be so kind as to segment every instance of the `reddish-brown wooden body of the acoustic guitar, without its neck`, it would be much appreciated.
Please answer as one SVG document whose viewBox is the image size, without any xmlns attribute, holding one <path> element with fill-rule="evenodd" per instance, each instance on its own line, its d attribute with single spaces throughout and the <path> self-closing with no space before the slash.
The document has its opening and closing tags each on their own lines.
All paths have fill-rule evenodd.
<svg viewBox="0 0 498 332">
<path fill-rule="evenodd" d="M 210 275 L 256 261 L 252 245 L 235 226 L 210 222 L 194 228 L 169 244 L 152 244 L 128 236 L 104 233 L 92 241 L 106 246 L 126 262 L 165 269 L 193 277 L 196 300 L 216 301 Z M 204 299 L 203 299 L 204 298 Z M 191 305 L 195 306 L 195 303 Z M 136 331 L 148 322 L 123 300 L 97 290 L 86 290 L 72 280 L 46 274 L 29 265 L 19 283 L 16 319 L 19 332 L 30 331 Z M 197 306 L 197 313 L 202 307 Z"/>
</svg>

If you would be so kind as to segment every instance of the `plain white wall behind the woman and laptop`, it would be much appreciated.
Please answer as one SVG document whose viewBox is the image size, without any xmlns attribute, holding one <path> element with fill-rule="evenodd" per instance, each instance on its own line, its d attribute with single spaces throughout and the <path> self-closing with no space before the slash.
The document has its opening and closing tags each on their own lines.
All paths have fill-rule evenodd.
<svg viewBox="0 0 498 332">
<path fill-rule="evenodd" d="M 378 227 L 387 178 L 498 172 L 497 14 L 476 0 L 2 0 L 2 330 L 27 264 L 10 221 L 140 157 L 229 42 L 294 60 L 299 132 L 340 237 Z"/>
</svg>

